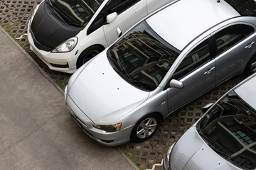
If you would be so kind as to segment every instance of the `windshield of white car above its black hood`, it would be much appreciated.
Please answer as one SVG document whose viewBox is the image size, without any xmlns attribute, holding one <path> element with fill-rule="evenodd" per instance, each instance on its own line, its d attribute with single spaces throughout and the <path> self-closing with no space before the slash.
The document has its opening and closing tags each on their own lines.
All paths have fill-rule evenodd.
<svg viewBox="0 0 256 170">
<path fill-rule="evenodd" d="M 104 0 L 50 0 L 67 23 L 86 26 Z"/>
</svg>

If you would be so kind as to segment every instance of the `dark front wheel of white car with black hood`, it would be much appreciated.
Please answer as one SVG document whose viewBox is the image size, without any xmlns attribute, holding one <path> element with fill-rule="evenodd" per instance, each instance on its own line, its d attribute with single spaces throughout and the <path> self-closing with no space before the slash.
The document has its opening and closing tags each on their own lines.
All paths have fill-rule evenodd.
<svg viewBox="0 0 256 170">
<path fill-rule="evenodd" d="M 95 57 L 97 54 L 99 54 L 103 50 L 104 50 L 103 47 L 100 47 L 100 46 L 97 46 L 97 45 L 88 47 L 78 57 L 77 69 L 79 69 L 83 64 L 85 64 L 87 61 L 91 60 L 93 57 Z"/>
</svg>

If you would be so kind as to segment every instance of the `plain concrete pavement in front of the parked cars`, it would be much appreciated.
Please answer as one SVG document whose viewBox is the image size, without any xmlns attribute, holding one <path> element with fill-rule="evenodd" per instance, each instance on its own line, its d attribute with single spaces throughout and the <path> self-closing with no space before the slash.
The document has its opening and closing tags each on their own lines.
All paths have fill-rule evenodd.
<svg viewBox="0 0 256 170">
<path fill-rule="evenodd" d="M 63 91 L 0 30 L 0 169 L 138 169 L 85 135 Z"/>
</svg>

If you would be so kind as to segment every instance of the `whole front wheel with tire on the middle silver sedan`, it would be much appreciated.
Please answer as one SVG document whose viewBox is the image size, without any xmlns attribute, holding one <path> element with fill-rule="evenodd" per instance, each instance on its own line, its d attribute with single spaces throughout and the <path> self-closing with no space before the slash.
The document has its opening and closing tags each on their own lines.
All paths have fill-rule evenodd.
<svg viewBox="0 0 256 170">
<path fill-rule="evenodd" d="M 160 124 L 158 115 L 151 113 L 141 118 L 134 126 L 131 133 L 132 142 L 141 142 L 154 135 Z"/>
</svg>

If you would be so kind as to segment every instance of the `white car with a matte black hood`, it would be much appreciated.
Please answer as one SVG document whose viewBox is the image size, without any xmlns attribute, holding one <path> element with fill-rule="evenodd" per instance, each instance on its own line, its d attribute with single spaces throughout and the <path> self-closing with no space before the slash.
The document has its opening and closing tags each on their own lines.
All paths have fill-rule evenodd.
<svg viewBox="0 0 256 170">
<path fill-rule="evenodd" d="M 43 0 L 28 23 L 31 50 L 73 73 L 130 27 L 172 0 Z"/>
</svg>

